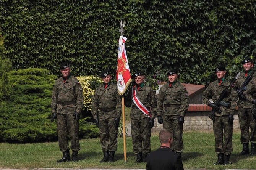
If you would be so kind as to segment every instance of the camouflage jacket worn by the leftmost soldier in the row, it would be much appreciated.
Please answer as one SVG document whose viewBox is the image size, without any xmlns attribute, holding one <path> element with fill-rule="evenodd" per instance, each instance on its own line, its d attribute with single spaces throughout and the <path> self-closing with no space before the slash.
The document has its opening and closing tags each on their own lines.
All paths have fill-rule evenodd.
<svg viewBox="0 0 256 170">
<path fill-rule="evenodd" d="M 74 104 L 62 105 L 58 102 L 72 102 Z M 83 108 L 83 88 L 79 81 L 70 75 L 70 78 L 64 83 L 63 77 L 56 80 L 52 90 L 52 113 L 74 114 L 81 113 Z"/>
</svg>

